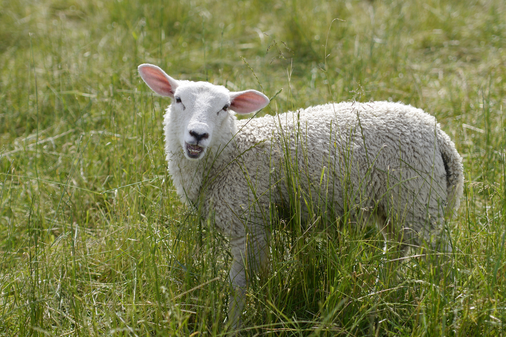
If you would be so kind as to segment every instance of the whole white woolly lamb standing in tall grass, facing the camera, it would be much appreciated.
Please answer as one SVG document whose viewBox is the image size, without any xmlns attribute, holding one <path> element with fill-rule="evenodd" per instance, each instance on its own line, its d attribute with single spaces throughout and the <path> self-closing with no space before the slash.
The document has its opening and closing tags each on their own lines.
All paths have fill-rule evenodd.
<svg viewBox="0 0 506 337">
<path fill-rule="evenodd" d="M 237 120 L 234 112 L 266 107 L 266 95 L 175 80 L 150 64 L 138 70 L 153 91 L 172 98 L 165 152 L 178 195 L 213 213 L 230 240 L 232 326 L 241 324 L 248 273 L 267 262 L 270 207 L 286 203 L 294 188 L 306 221 L 315 220 L 313 208 L 325 208 L 323 222 L 348 212 L 375 222 L 401 251 L 451 252 L 442 226 L 460 203 L 462 159 L 424 111 L 343 102 Z"/>
</svg>

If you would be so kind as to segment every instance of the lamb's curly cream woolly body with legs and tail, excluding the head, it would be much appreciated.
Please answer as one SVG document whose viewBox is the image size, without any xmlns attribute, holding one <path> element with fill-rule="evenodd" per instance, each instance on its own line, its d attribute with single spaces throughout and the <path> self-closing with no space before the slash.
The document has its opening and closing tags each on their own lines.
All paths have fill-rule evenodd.
<svg viewBox="0 0 506 337">
<path fill-rule="evenodd" d="M 451 250 L 441 227 L 446 204 L 457 208 L 462 195 L 461 158 L 435 118 L 422 110 L 345 102 L 249 120 L 231 116 L 227 128 L 206 160 L 193 162 L 179 146 L 171 148 L 170 110 L 165 119 L 169 171 L 178 194 L 198 203 L 202 192 L 203 212 L 214 211 L 216 226 L 230 237 L 230 277 L 241 288 L 239 297 L 247 283 L 244 262 L 255 269 L 264 260 L 270 203 L 289 200 L 288 179 L 298 184 L 301 198 L 331 204 L 336 215 L 348 208 L 357 220 L 379 218 L 387 239 Z M 286 177 L 287 160 L 297 174 Z"/>
</svg>

